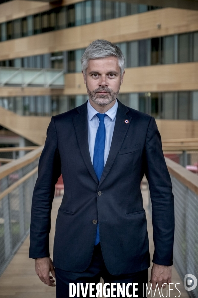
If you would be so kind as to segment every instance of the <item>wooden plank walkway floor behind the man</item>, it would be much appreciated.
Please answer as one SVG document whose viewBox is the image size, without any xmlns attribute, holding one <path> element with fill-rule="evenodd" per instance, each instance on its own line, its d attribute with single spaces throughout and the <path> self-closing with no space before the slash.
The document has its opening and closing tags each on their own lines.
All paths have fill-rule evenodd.
<svg viewBox="0 0 198 298">
<path fill-rule="evenodd" d="M 147 216 L 147 229 L 148 236 L 150 242 L 150 254 L 151 258 L 154 251 L 154 244 L 152 240 L 152 221 L 150 218 L 150 214 L 148 212 L 148 191 L 143 191 L 143 199 L 144 199 L 144 208 L 146 210 Z M 60 197 L 55 198 L 53 201 L 52 207 L 52 215 L 51 215 L 51 234 L 50 234 L 50 252 L 52 256 L 53 251 L 53 237 L 55 232 L 55 220 L 57 216 L 57 210 L 61 203 Z M 0 298 L 55 298 L 55 287 L 49 287 L 44 285 L 40 279 L 37 277 L 34 270 L 34 260 L 28 258 L 29 251 L 29 237 L 22 244 L 2 276 L 0 277 Z M 152 263 L 151 263 L 152 266 Z M 151 267 L 148 269 L 148 287 L 150 288 L 150 273 Z M 184 289 L 183 281 L 180 279 L 177 271 L 174 266 L 172 269 L 173 278 L 172 283 L 180 283 L 177 285 L 178 289 L 181 292 L 181 298 L 189 298 L 187 292 Z M 172 285 L 174 288 L 174 285 Z M 170 296 L 175 297 L 179 296 L 179 292 L 177 290 L 170 291 Z M 154 291 L 153 291 L 154 295 Z M 163 294 L 164 297 L 166 294 Z M 162 297 L 159 294 L 155 294 L 155 296 L 148 295 L 148 297 L 159 298 Z"/>
</svg>

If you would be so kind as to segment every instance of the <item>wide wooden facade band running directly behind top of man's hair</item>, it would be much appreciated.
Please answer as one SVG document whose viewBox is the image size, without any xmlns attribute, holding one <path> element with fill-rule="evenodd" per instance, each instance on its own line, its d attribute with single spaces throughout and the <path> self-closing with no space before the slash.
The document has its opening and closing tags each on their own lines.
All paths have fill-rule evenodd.
<svg viewBox="0 0 198 298">
<path fill-rule="evenodd" d="M 4 41 L 0 43 L 0 60 L 85 48 L 95 39 L 117 43 L 196 30 L 198 11 L 164 8 Z"/>
</svg>

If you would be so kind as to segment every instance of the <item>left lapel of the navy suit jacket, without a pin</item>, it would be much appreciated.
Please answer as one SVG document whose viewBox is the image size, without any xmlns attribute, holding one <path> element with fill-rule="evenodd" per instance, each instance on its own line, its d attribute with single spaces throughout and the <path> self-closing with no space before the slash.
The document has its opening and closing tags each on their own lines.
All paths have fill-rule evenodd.
<svg viewBox="0 0 198 298">
<path fill-rule="evenodd" d="M 89 145 L 88 145 L 87 102 L 84 105 L 80 106 L 77 109 L 77 111 L 79 112 L 79 114 L 73 116 L 73 123 L 74 123 L 75 132 L 76 132 L 76 137 L 78 140 L 79 149 L 81 151 L 83 160 L 85 162 L 85 165 L 90 175 L 92 176 L 94 181 L 98 184 L 99 182 L 92 165 Z"/>
</svg>

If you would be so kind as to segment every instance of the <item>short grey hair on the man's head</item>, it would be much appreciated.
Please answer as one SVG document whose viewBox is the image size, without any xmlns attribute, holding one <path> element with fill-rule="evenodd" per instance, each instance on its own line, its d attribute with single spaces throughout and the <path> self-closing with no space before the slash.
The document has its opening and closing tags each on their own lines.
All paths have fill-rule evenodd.
<svg viewBox="0 0 198 298">
<path fill-rule="evenodd" d="M 118 58 L 121 75 L 124 72 L 125 59 L 120 48 L 108 40 L 97 39 L 93 41 L 85 50 L 81 58 L 82 71 L 86 73 L 90 59 L 106 58 L 114 56 Z"/>
</svg>

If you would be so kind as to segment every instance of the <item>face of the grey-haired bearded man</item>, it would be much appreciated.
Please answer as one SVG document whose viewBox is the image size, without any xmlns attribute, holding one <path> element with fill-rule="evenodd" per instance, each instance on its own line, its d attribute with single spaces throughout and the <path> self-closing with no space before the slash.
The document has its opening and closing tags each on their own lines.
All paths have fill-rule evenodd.
<svg viewBox="0 0 198 298">
<path fill-rule="evenodd" d="M 100 106 L 113 102 L 123 82 L 118 59 L 114 56 L 91 59 L 86 74 L 83 73 L 84 83 L 90 100 Z"/>
</svg>

